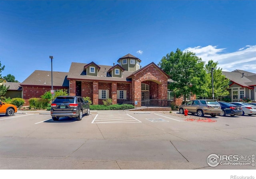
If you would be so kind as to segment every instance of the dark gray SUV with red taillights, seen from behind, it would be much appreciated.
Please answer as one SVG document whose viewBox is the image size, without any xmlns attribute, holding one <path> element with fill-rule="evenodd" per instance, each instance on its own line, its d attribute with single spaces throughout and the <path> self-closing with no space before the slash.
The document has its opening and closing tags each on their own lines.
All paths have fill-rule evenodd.
<svg viewBox="0 0 256 179">
<path fill-rule="evenodd" d="M 82 120 L 83 114 L 90 114 L 90 106 L 81 96 L 58 96 L 51 104 L 53 120 L 59 120 L 60 117 Z"/>
</svg>

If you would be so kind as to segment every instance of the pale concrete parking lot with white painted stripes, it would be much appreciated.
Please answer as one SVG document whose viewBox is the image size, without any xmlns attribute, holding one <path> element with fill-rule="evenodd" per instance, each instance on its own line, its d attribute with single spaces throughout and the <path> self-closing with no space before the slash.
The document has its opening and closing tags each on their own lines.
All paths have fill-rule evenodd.
<svg viewBox="0 0 256 179">
<path fill-rule="evenodd" d="M 2 115 L 0 169 L 256 169 L 256 115 L 206 117 L 214 122 L 138 111 L 91 111 L 81 121 Z M 230 163 L 211 167 L 211 154 Z"/>
</svg>

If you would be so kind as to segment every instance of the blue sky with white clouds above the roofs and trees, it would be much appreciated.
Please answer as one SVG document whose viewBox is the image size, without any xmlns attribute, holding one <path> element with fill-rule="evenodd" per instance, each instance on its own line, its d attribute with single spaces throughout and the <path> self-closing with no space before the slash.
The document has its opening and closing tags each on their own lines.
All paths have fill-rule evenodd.
<svg viewBox="0 0 256 179">
<path fill-rule="evenodd" d="M 72 62 L 112 65 L 131 53 L 141 65 L 194 51 L 223 71 L 256 73 L 256 1 L 0 1 L 0 61 L 24 81 L 34 70 L 68 72 Z"/>
</svg>

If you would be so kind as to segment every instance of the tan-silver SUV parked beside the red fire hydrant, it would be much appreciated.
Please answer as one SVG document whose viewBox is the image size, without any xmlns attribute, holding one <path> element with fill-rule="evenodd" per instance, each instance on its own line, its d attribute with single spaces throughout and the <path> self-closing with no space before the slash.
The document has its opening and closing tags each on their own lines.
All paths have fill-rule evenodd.
<svg viewBox="0 0 256 179">
<path fill-rule="evenodd" d="M 222 111 L 220 104 L 213 99 L 188 101 L 179 106 L 180 114 L 184 114 L 185 109 L 187 109 L 188 112 L 197 114 L 200 117 L 203 117 L 204 114 L 210 114 L 212 117 L 215 117 Z"/>
</svg>

